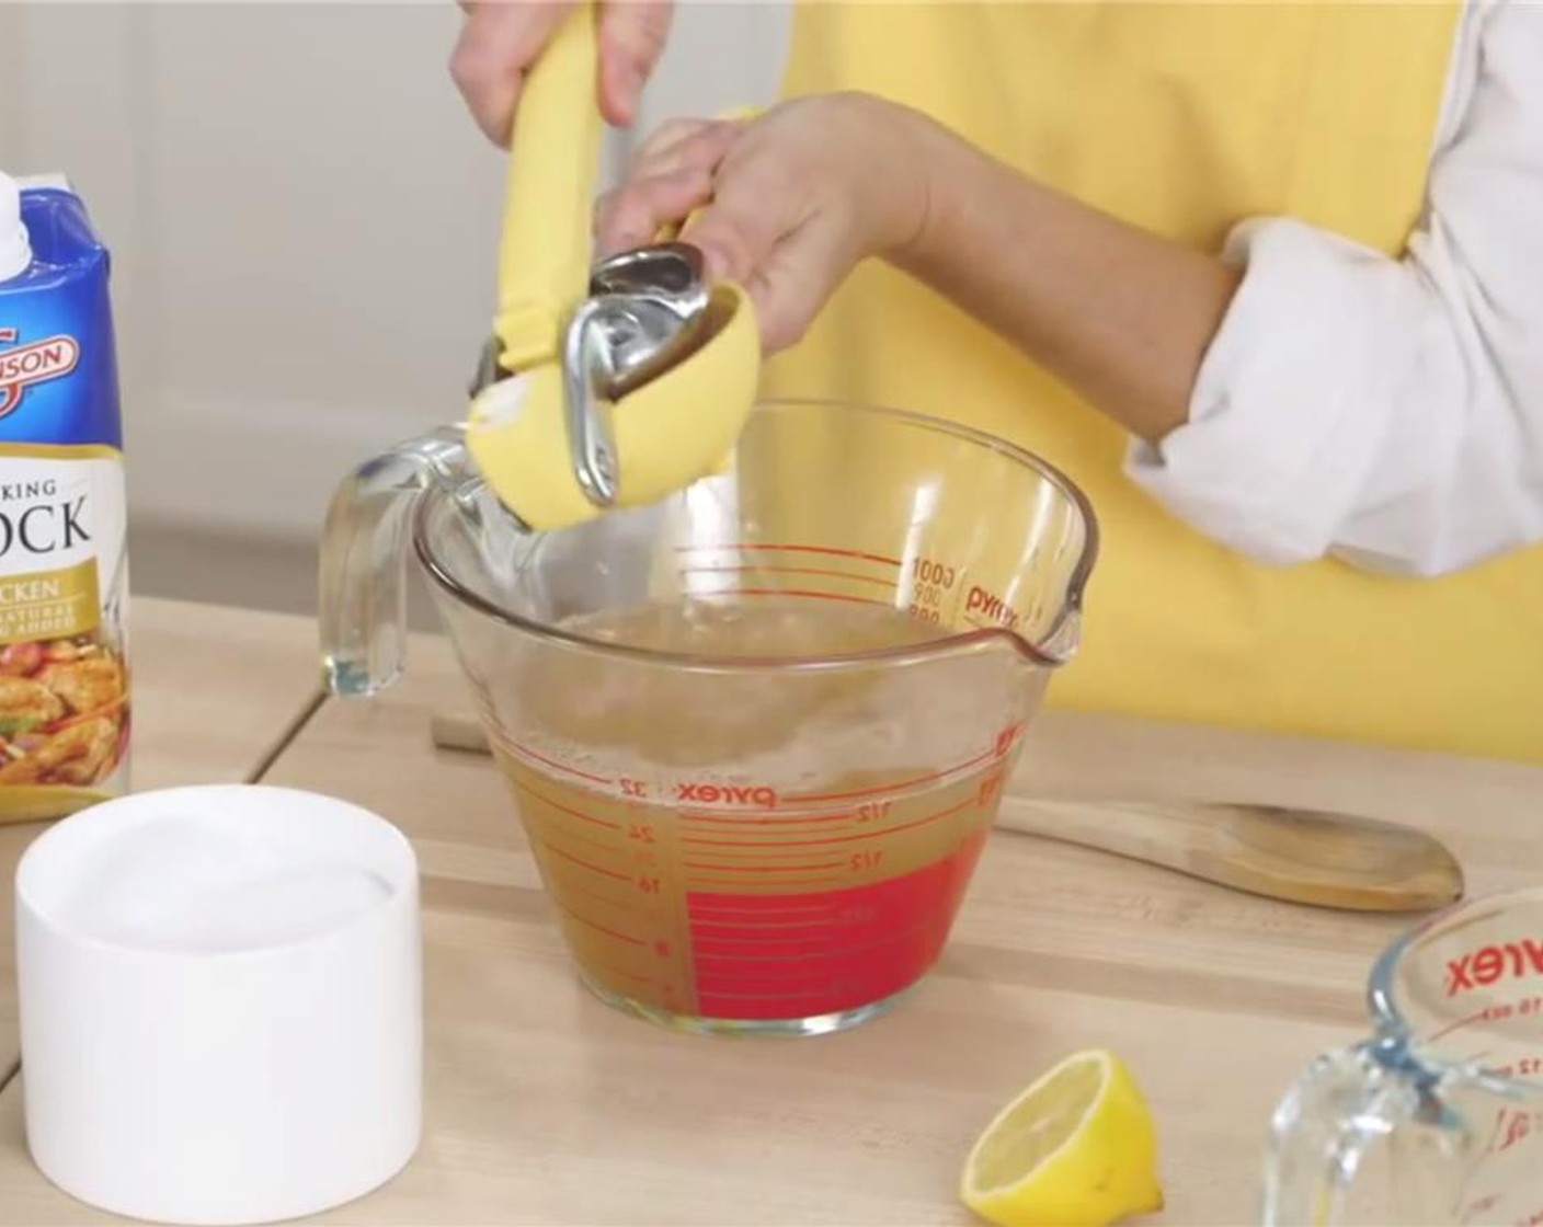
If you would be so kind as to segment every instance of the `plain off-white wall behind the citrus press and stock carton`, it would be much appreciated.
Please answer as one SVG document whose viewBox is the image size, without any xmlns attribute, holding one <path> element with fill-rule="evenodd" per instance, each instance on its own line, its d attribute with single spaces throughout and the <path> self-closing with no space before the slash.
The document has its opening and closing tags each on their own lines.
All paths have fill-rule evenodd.
<svg viewBox="0 0 1543 1227">
<path fill-rule="evenodd" d="M 310 540 L 349 466 L 463 412 L 503 161 L 446 69 L 458 22 L 0 3 L 0 168 L 66 173 L 114 253 L 136 520 Z M 785 25 L 682 5 L 636 134 L 770 99 Z"/>
</svg>

